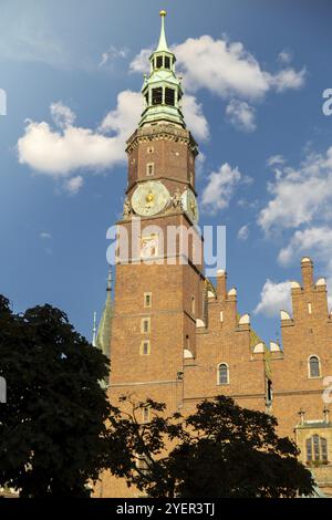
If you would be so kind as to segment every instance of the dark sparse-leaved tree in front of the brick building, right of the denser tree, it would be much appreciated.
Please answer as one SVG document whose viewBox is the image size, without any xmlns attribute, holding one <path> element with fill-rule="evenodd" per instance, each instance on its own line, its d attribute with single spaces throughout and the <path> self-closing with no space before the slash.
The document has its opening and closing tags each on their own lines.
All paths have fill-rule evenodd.
<svg viewBox="0 0 332 520">
<path fill-rule="evenodd" d="M 291 498 L 313 490 L 297 446 L 278 437 L 270 415 L 222 395 L 187 418 L 163 417 L 165 406 L 151 399 L 123 402 L 125 412 L 113 407 L 108 466 L 151 497 Z M 148 424 L 138 419 L 144 407 L 151 409 Z"/>
</svg>

